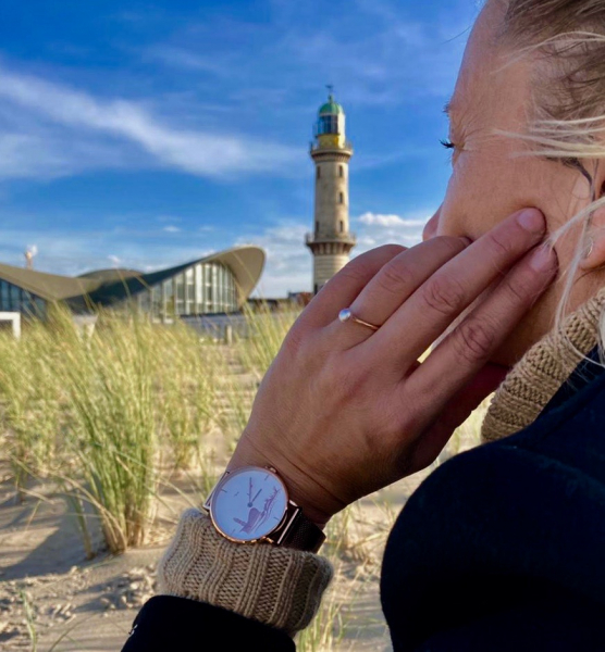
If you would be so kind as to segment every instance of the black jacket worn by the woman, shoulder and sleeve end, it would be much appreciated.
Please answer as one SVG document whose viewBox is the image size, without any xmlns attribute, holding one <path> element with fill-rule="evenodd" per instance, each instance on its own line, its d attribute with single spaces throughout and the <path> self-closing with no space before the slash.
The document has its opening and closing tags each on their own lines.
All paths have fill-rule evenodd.
<svg viewBox="0 0 605 652">
<path fill-rule="evenodd" d="M 381 595 L 397 652 L 605 651 L 603 369 L 580 365 L 529 428 L 429 476 L 391 532 Z M 180 598 L 134 627 L 123 652 L 294 650 Z"/>
</svg>

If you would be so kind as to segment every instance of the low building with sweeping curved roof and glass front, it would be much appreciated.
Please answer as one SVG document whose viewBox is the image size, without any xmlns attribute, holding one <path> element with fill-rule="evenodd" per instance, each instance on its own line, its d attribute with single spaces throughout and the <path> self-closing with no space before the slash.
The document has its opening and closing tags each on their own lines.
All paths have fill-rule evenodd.
<svg viewBox="0 0 605 652">
<path fill-rule="evenodd" d="M 76 313 L 135 302 L 153 317 L 237 311 L 257 286 L 264 251 L 236 247 L 169 269 L 99 269 L 70 277 L 0 264 L 0 312 L 44 315 L 61 301 Z"/>
</svg>

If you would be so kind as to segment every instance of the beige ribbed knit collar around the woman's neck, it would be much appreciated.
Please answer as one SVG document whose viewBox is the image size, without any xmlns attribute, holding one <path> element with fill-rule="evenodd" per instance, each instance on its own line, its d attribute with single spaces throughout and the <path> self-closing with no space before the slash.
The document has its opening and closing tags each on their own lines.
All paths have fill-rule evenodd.
<svg viewBox="0 0 605 652">
<path fill-rule="evenodd" d="M 598 342 L 605 289 L 532 347 L 496 390 L 483 425 L 483 441 L 514 435 L 532 424 L 583 356 Z"/>
</svg>

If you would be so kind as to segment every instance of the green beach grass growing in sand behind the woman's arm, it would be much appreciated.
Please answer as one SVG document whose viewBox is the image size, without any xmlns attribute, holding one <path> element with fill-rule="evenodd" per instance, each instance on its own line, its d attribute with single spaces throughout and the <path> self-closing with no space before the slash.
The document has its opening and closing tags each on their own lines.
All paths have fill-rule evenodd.
<svg viewBox="0 0 605 652">
<path fill-rule="evenodd" d="M 92 521 L 112 553 L 144 546 L 163 487 L 194 478 L 200 502 L 210 490 L 297 314 L 247 311 L 247 337 L 231 346 L 181 323 L 109 311 L 92 334 L 61 309 L 27 324 L 21 340 L 0 333 L 0 418 L 15 496 L 26 494 L 32 478 L 55 482 L 87 557 L 98 552 Z M 482 410 L 436 464 L 479 442 Z M 299 650 L 345 649 L 359 627 L 358 593 L 378 581 L 397 511 L 379 493 L 332 519 L 322 554 L 336 577 Z"/>
</svg>

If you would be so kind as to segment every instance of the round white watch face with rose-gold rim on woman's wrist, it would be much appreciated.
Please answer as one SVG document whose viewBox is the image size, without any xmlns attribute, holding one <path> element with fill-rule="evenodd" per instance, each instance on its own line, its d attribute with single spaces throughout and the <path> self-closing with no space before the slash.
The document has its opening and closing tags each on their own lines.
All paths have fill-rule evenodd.
<svg viewBox="0 0 605 652">
<path fill-rule="evenodd" d="M 275 474 L 266 468 L 239 468 L 214 490 L 210 513 L 217 528 L 230 539 L 256 541 L 280 525 L 287 500 L 286 488 Z"/>
</svg>

